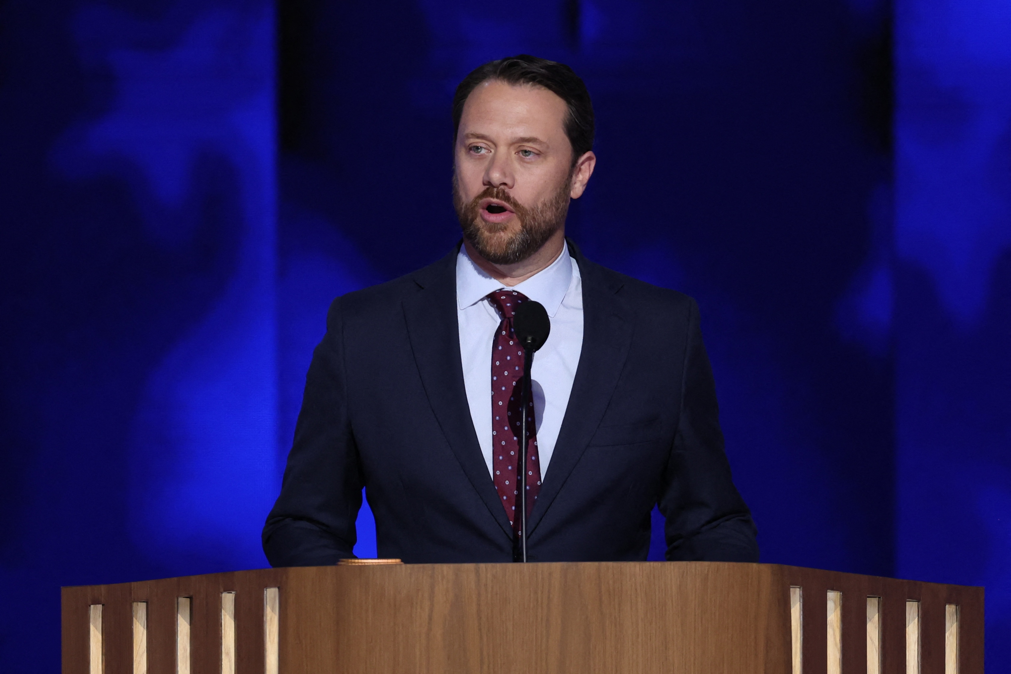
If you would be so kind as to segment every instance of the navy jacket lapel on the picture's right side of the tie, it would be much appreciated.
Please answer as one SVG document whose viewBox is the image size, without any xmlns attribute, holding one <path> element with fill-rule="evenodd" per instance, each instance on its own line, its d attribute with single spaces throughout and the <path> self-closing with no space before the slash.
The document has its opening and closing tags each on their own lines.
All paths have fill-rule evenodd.
<svg viewBox="0 0 1011 674">
<path fill-rule="evenodd" d="M 632 344 L 632 316 L 618 297 L 623 283 L 606 278 L 602 268 L 586 261 L 572 242 L 569 250 L 582 277 L 582 349 L 558 441 L 531 513 L 531 535 L 596 431 Z"/>
</svg>

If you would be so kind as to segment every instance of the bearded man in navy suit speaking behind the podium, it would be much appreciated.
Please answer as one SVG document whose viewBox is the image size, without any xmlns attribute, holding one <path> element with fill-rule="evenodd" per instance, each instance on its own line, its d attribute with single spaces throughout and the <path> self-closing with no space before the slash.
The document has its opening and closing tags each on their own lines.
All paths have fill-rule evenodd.
<svg viewBox="0 0 1011 674">
<path fill-rule="evenodd" d="M 530 561 L 645 560 L 658 504 L 667 559 L 757 562 L 695 300 L 605 269 L 565 237 L 596 162 L 582 80 L 526 55 L 494 61 L 460 83 L 453 121 L 463 240 L 334 300 L 264 526 L 267 559 L 353 557 L 364 487 L 379 557 L 514 561 L 526 470 Z M 391 161 L 404 150 L 377 143 Z M 550 317 L 526 410 L 513 331 L 523 302 Z"/>
</svg>

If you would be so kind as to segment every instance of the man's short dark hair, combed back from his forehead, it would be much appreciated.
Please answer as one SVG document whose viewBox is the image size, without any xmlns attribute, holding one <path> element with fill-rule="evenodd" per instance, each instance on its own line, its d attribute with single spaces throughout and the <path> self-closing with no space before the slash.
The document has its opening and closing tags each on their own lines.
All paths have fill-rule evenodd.
<svg viewBox="0 0 1011 674">
<path fill-rule="evenodd" d="M 593 149 L 593 104 L 579 76 L 565 64 L 538 59 L 529 54 L 499 59 L 479 66 L 463 78 L 453 96 L 453 138 L 460 129 L 463 104 L 481 82 L 498 80 L 507 84 L 533 84 L 554 92 L 565 101 L 565 135 L 572 146 L 572 165 Z"/>
</svg>

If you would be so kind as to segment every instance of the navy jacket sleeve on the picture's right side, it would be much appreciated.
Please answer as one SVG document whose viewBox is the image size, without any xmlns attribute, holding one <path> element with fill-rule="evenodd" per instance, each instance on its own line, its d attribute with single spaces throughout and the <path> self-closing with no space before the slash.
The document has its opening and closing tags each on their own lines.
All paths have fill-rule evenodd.
<svg viewBox="0 0 1011 674">
<path fill-rule="evenodd" d="M 695 300 L 681 386 L 677 432 L 659 502 L 666 517 L 667 559 L 757 562 L 755 526 L 724 453 L 716 386 Z"/>
</svg>

